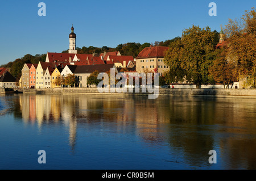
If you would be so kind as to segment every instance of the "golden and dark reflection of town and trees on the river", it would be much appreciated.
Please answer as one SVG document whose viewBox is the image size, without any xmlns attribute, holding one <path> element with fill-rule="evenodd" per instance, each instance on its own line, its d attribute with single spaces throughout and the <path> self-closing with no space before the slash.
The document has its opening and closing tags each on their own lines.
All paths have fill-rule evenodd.
<svg viewBox="0 0 256 181">
<path fill-rule="evenodd" d="M 191 168 L 210 168 L 217 150 L 222 169 L 256 169 L 254 99 L 172 98 L 160 96 L 17 95 L 13 112 L 25 124 L 64 124 L 75 150 L 77 129 L 96 126 L 132 134 L 148 146 L 168 146 L 172 159 Z M 102 132 L 101 132 L 102 133 Z"/>
</svg>

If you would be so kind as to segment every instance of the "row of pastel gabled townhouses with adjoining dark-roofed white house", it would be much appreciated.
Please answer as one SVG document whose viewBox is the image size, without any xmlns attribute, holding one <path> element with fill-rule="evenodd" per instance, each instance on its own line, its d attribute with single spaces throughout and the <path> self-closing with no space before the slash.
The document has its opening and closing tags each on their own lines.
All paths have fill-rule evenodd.
<svg viewBox="0 0 256 181">
<path fill-rule="evenodd" d="M 49 62 L 39 64 L 24 64 L 22 76 L 19 80 L 19 87 L 22 89 L 47 89 L 56 88 L 55 82 L 58 76 L 75 74 L 79 78 L 77 87 L 88 87 L 87 78 L 93 71 L 107 72 L 111 68 L 118 73 L 115 64 L 98 65 L 70 65 Z"/>
</svg>

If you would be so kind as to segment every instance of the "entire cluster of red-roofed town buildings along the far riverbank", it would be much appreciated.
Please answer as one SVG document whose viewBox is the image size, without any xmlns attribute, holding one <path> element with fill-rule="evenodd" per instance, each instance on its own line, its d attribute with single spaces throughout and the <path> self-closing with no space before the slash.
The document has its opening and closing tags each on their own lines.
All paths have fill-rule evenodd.
<svg viewBox="0 0 256 181">
<path fill-rule="evenodd" d="M 115 68 L 117 71 L 142 73 L 146 69 L 163 75 L 168 71 L 164 64 L 164 53 L 168 47 L 147 47 L 133 56 L 121 56 L 119 52 L 108 52 L 95 57 L 93 54 L 47 53 L 46 62 L 24 64 L 19 85 L 22 89 L 55 88 L 55 80 L 59 75 L 77 74 L 86 87 L 86 79 L 95 70 Z M 110 66 L 108 66 L 110 65 Z M 125 68 L 125 69 L 123 69 Z"/>
</svg>

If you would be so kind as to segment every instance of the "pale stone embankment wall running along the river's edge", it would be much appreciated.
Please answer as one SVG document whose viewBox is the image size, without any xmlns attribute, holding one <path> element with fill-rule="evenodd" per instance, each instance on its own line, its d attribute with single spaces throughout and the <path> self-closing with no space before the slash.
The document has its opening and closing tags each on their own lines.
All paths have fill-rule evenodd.
<svg viewBox="0 0 256 181">
<path fill-rule="evenodd" d="M 148 95 L 150 93 L 100 93 L 97 88 L 54 88 L 54 89 L 14 89 L 14 91 L 23 92 L 23 94 L 105 94 L 105 95 Z M 1 91 L 0 91 L 1 92 Z M 170 96 L 225 96 L 256 98 L 256 89 L 159 89 L 160 95 Z"/>
</svg>

